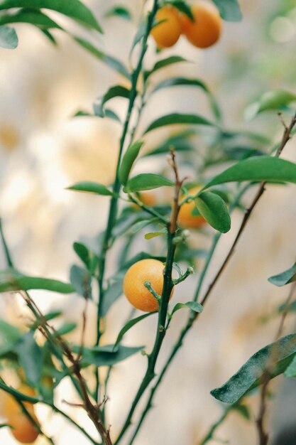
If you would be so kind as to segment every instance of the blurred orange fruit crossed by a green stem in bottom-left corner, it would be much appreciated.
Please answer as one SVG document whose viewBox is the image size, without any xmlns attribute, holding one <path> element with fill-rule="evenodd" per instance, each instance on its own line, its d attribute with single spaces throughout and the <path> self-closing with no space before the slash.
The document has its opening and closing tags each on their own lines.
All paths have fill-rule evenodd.
<svg viewBox="0 0 296 445">
<path fill-rule="evenodd" d="M 35 396 L 33 388 L 27 385 L 21 385 L 18 387 L 18 391 L 30 397 Z M 28 410 L 28 413 L 31 414 L 31 417 L 38 423 L 33 404 L 29 402 L 23 402 L 23 404 Z M 13 437 L 21 442 L 21 444 L 33 444 L 38 437 L 38 430 L 35 428 L 33 422 L 26 417 L 21 406 L 11 395 L 6 395 L 4 400 L 4 415 L 7 423 L 11 426 L 11 434 L 13 434 Z"/>
</svg>

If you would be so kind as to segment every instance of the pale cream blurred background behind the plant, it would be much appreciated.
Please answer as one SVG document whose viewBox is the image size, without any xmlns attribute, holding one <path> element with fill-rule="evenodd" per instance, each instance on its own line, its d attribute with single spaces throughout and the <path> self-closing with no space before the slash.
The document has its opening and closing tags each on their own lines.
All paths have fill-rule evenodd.
<svg viewBox="0 0 296 445">
<path fill-rule="evenodd" d="M 111 4 L 116 4 L 99 0 L 85 2 L 98 17 L 102 17 Z M 135 16 L 139 14 L 138 0 L 126 3 Z M 225 23 L 221 43 L 206 52 L 190 47 L 181 38 L 166 55 L 181 53 L 194 64 L 163 70 L 158 80 L 170 73 L 201 77 L 218 96 L 226 113 L 226 124 L 243 127 L 243 107 L 258 93 L 273 87 L 295 88 L 295 76 L 291 76 L 288 59 L 292 48 L 295 54 L 296 14 L 287 18 L 290 38 L 281 39 L 279 27 L 282 26 L 283 31 L 287 22 L 282 20 L 281 25 L 280 21 L 273 21 L 270 28 L 265 23 L 268 8 L 271 11 L 276 5 L 275 0 L 241 1 L 244 21 Z M 135 28 L 118 18 L 105 19 L 102 23 L 106 32 L 99 36 L 97 45 L 126 60 Z M 65 191 L 65 187 L 82 180 L 105 184 L 112 181 L 121 130 L 118 124 L 107 119 L 71 119 L 71 116 L 79 108 L 90 109 L 95 97 L 122 80 L 84 53 L 70 38 L 57 33 L 60 45 L 54 48 L 29 26 L 17 28 L 19 48 L 1 50 L 0 215 L 13 258 L 23 272 L 67 279 L 70 264 L 75 261 L 72 242 L 81 235 L 93 236 L 102 230 L 108 198 L 72 193 Z M 273 38 L 272 43 L 266 37 L 268 33 Z M 283 43 L 278 43 L 280 41 Z M 274 50 L 280 52 L 278 57 L 285 69 L 280 70 L 270 60 Z M 153 57 L 150 49 L 148 64 L 153 63 Z M 114 101 L 114 105 L 124 117 L 123 100 Z M 208 113 L 207 104 L 198 93 L 183 89 L 173 94 L 161 92 L 148 104 L 142 129 L 155 116 L 155 109 L 159 114 L 169 111 Z M 272 115 L 259 117 L 248 125 L 250 129 L 271 131 L 275 139 L 282 132 L 280 123 Z M 155 144 L 164 134 L 153 134 L 148 144 Z M 290 144 L 284 156 L 296 159 L 295 144 Z M 158 163 L 149 160 L 145 165 L 142 163 L 139 170 L 157 171 Z M 295 217 L 295 188 L 269 186 L 207 310 L 187 336 L 184 348 L 163 381 L 155 400 L 156 407 L 141 430 L 138 444 L 196 444 L 221 412 L 209 390 L 224 382 L 254 351 L 272 341 L 277 321 L 262 323 L 261 318 L 283 302 L 286 290 L 275 289 L 268 284 L 267 278 L 295 261 L 295 243 L 291 242 L 295 240 Z M 204 289 L 221 264 L 240 221 L 241 214 L 235 213 L 233 230 L 222 237 Z M 198 247 L 208 242 L 202 236 L 192 236 L 192 239 Z M 144 248 L 139 246 L 140 250 Z M 114 272 L 115 259 L 115 256 L 109 258 L 109 274 Z M 4 258 L 0 262 L 4 266 Z M 177 289 L 174 300 L 187 301 L 193 289 L 194 278 L 190 278 Z M 43 292 L 33 295 L 43 311 L 64 309 L 65 320 L 80 322 L 83 310 L 80 297 Z M 21 299 L 4 296 L 0 304 L 1 317 L 19 327 L 26 324 L 30 315 Z M 129 309 L 125 299 L 120 299 L 111 309 L 106 343 L 114 341 Z M 95 336 L 95 312 L 94 305 L 89 304 L 86 336 L 89 345 Z M 185 317 L 185 313 L 176 314 L 159 365 L 164 363 Z M 288 318 L 288 324 L 292 328 L 293 320 Z M 149 318 L 128 332 L 124 343 L 144 344 L 149 348 L 154 331 L 155 320 Z M 70 336 L 75 341 L 79 338 L 78 331 L 76 336 Z M 145 366 L 146 359 L 137 355 L 114 369 L 108 402 L 114 434 L 119 431 Z M 75 402 L 67 381 L 60 386 L 57 404 L 94 433 L 86 414 L 80 409 L 66 407 L 62 404 L 63 398 Z M 250 403 L 256 407 L 256 397 Z M 57 444 L 87 443 L 75 429 L 56 415 L 51 416 L 44 407 L 38 407 L 38 414 L 44 420 L 45 431 L 53 434 Z M 219 429 L 218 436 L 231 439 L 232 444 L 256 443 L 253 424 L 247 424 L 238 414 L 231 415 L 229 422 Z M 5 445 L 14 443 L 6 429 L 1 429 L 0 437 Z M 45 444 L 45 439 L 40 438 L 36 443 Z"/>
</svg>

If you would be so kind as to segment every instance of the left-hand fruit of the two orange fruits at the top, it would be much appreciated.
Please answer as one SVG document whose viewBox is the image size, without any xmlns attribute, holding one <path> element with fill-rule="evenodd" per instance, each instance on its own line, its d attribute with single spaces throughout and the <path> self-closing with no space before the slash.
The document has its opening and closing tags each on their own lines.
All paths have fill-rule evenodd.
<svg viewBox="0 0 296 445">
<path fill-rule="evenodd" d="M 158 48 L 170 48 L 175 45 L 182 33 L 178 11 L 172 6 L 164 6 L 158 10 L 155 18 L 161 23 L 152 28 L 151 36 Z"/>
</svg>

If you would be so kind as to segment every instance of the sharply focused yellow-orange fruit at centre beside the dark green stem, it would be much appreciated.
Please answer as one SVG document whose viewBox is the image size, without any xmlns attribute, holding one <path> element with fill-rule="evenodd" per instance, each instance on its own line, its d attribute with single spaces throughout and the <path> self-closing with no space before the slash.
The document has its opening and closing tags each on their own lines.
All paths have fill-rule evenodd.
<svg viewBox="0 0 296 445">
<path fill-rule="evenodd" d="M 144 283 L 150 282 L 157 294 L 161 295 L 163 269 L 163 263 L 157 259 L 141 259 L 128 269 L 124 277 L 124 294 L 133 307 L 144 312 L 158 311 L 158 301 Z"/>
</svg>

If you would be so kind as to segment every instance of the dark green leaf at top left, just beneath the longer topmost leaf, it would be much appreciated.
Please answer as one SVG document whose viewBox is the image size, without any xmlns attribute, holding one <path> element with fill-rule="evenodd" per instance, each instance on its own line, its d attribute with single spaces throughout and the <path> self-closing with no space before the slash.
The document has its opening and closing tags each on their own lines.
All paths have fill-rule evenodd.
<svg viewBox="0 0 296 445">
<path fill-rule="evenodd" d="M 57 28 L 62 29 L 55 21 L 50 17 L 43 14 L 41 11 L 34 11 L 33 9 L 21 9 L 16 14 L 5 14 L 0 16 L 0 25 L 6 23 L 31 23 L 34 26 L 38 26 L 41 29 Z"/>
</svg>

